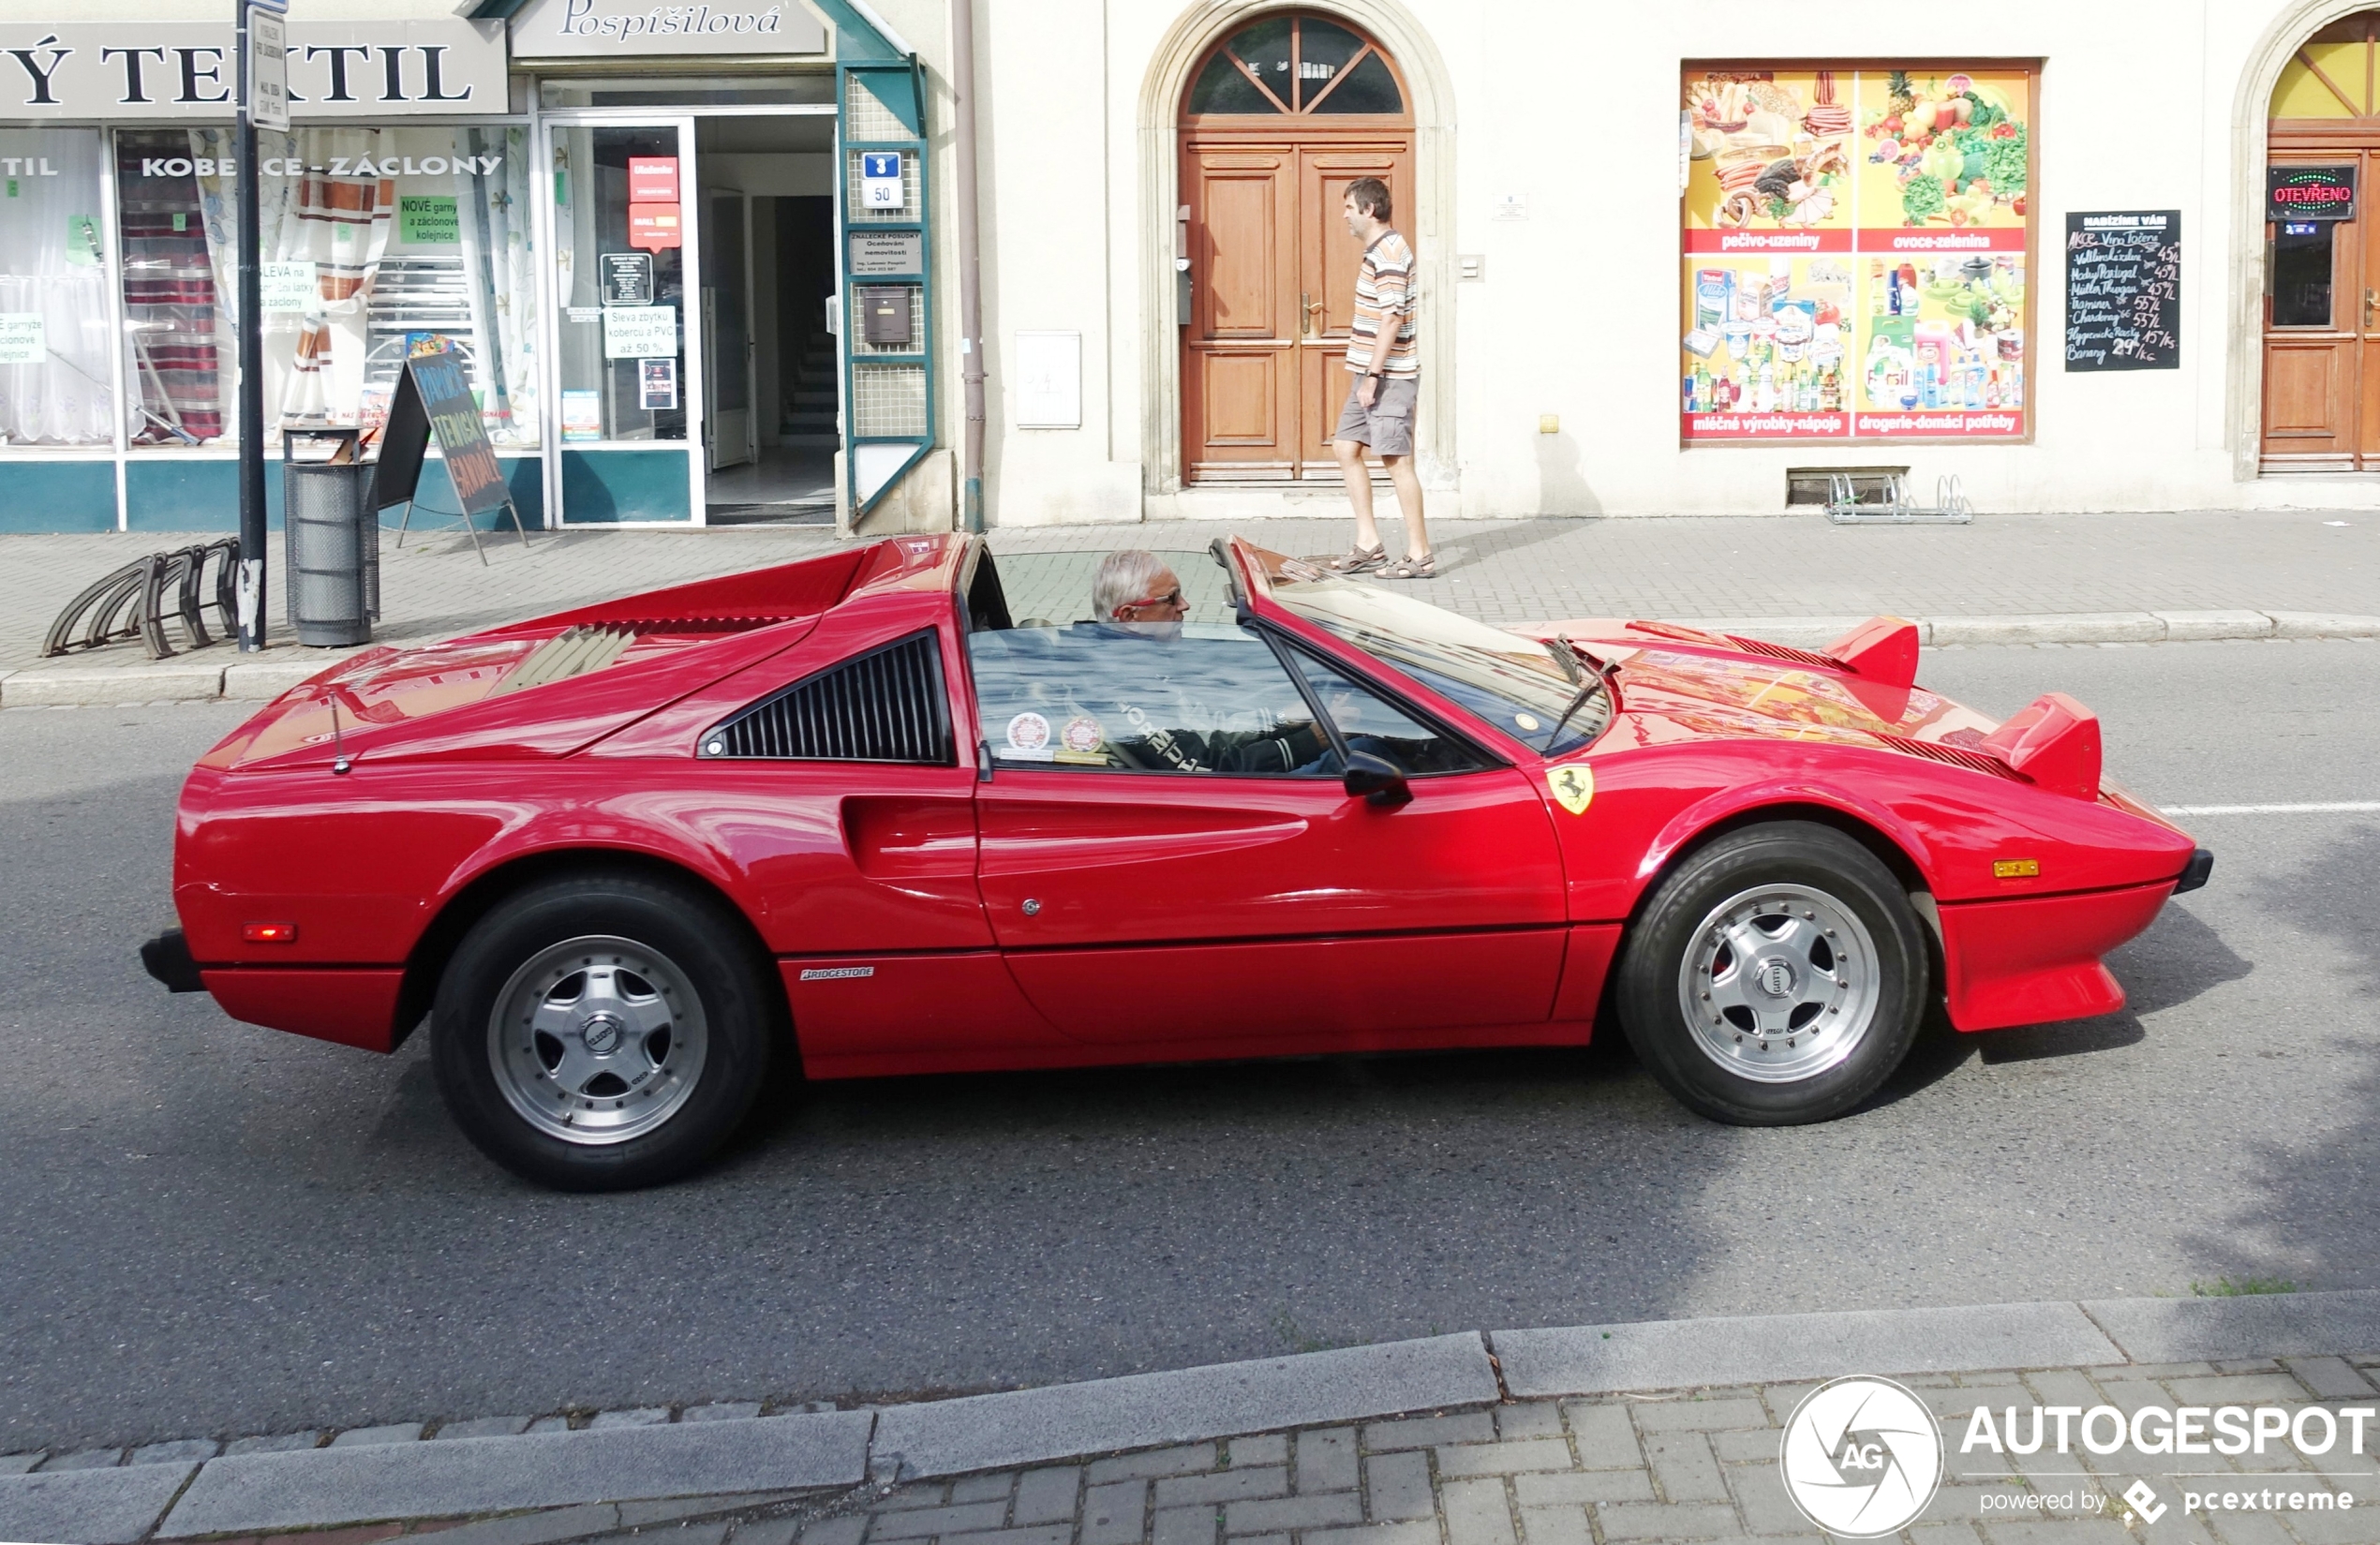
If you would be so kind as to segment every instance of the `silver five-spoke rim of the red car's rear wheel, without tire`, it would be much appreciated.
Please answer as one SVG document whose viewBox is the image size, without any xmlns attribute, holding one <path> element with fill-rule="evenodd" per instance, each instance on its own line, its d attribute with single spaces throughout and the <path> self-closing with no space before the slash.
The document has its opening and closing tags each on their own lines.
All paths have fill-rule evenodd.
<svg viewBox="0 0 2380 1545">
<path fill-rule="evenodd" d="M 702 997 L 666 955 L 628 938 L 566 938 L 495 995 L 488 1062 L 514 1112 L 564 1143 L 662 1126 L 702 1078 Z"/>
</svg>

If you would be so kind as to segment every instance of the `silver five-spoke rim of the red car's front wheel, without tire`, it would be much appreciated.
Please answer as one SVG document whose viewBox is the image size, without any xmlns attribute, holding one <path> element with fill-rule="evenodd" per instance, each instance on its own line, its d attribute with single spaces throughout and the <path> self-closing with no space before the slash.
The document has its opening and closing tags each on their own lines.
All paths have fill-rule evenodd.
<svg viewBox="0 0 2380 1545">
<path fill-rule="evenodd" d="M 1702 1055 L 1754 1083 L 1816 1078 L 1875 1021 L 1880 962 L 1866 924 L 1811 886 L 1756 886 L 1711 907 L 1678 969 Z"/>
</svg>

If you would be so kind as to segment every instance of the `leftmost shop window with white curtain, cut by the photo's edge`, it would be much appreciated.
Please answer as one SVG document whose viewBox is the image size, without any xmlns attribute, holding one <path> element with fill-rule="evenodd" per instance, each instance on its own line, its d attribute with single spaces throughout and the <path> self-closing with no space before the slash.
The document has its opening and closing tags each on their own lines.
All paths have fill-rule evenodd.
<svg viewBox="0 0 2380 1545">
<path fill-rule="evenodd" d="M 98 129 L 0 133 L 0 443 L 114 445 Z"/>
</svg>

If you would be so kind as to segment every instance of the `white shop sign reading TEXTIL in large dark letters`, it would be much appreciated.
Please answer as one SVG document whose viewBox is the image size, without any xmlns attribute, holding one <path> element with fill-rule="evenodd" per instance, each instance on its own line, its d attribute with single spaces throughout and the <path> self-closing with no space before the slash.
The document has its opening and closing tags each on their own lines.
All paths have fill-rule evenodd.
<svg viewBox="0 0 2380 1545">
<path fill-rule="evenodd" d="M 236 81 L 228 21 L 0 26 L 0 117 L 10 119 L 228 119 Z M 293 19 L 288 100 L 298 119 L 505 112 L 505 29 Z"/>
</svg>

